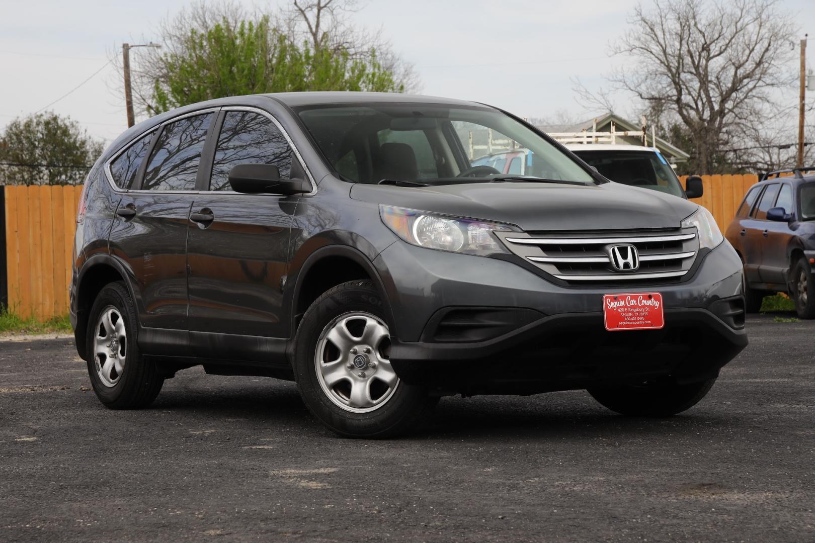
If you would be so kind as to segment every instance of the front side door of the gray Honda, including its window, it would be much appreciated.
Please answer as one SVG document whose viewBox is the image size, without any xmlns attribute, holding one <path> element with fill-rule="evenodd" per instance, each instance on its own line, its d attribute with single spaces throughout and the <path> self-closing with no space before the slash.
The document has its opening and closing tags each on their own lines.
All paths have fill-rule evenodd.
<svg viewBox="0 0 815 543">
<path fill-rule="evenodd" d="M 207 154 L 212 166 L 187 239 L 192 344 L 203 357 L 264 361 L 269 343 L 259 338 L 289 335 L 282 287 L 298 197 L 236 193 L 229 172 L 237 164 L 274 164 L 289 178 L 293 148 L 267 112 L 225 107 Z"/>
</svg>

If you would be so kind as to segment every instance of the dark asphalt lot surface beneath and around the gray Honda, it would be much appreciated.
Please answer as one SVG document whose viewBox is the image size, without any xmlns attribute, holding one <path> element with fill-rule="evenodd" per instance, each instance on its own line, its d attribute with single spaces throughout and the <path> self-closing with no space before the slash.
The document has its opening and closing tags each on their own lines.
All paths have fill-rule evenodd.
<svg viewBox="0 0 815 543">
<path fill-rule="evenodd" d="M 0 541 L 815 541 L 815 322 L 777 320 L 673 418 L 449 397 L 386 441 L 200 368 L 111 411 L 72 340 L 0 342 Z"/>
</svg>

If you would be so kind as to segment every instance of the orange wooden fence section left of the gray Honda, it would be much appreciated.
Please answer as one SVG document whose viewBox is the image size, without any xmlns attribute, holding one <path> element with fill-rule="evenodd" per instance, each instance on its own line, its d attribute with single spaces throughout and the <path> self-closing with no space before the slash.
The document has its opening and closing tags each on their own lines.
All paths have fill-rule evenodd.
<svg viewBox="0 0 815 543">
<path fill-rule="evenodd" d="M 68 313 L 82 187 L 6 186 L 5 191 L 8 307 L 24 318 L 61 317 Z"/>
</svg>

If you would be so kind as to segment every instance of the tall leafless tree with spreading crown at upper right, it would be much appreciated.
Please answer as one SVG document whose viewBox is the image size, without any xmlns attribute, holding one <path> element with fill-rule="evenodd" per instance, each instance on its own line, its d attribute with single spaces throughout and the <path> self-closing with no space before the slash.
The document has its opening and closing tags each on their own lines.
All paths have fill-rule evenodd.
<svg viewBox="0 0 815 543">
<path fill-rule="evenodd" d="M 654 0 L 635 8 L 615 55 L 632 59 L 610 77 L 677 125 L 698 173 L 720 173 L 730 149 L 756 142 L 791 85 L 795 24 L 777 0 Z"/>
</svg>

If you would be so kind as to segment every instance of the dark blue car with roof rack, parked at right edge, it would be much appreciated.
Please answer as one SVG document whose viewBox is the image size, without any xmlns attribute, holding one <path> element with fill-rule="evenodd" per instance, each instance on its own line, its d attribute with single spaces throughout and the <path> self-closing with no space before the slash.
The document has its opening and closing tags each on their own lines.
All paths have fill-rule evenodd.
<svg viewBox="0 0 815 543">
<path fill-rule="evenodd" d="M 747 312 L 786 292 L 801 318 L 815 318 L 815 168 L 765 173 L 725 236 L 744 263 Z M 781 177 L 782 173 L 792 173 Z"/>
</svg>

